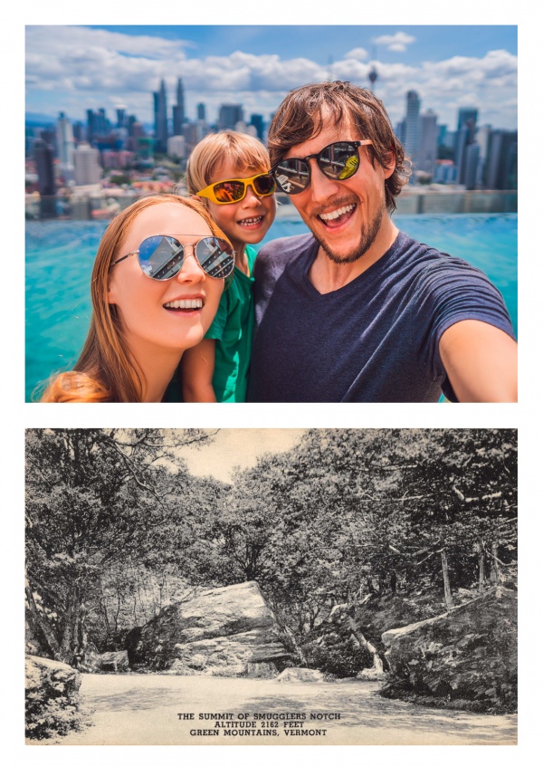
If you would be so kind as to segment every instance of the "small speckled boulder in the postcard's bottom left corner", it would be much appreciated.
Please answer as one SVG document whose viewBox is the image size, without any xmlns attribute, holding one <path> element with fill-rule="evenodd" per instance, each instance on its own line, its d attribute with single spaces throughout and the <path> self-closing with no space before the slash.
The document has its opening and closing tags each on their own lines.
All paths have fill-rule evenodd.
<svg viewBox="0 0 543 766">
<path fill-rule="evenodd" d="M 81 677 L 70 665 L 27 655 L 26 735 L 43 740 L 81 725 L 78 710 Z"/>
</svg>

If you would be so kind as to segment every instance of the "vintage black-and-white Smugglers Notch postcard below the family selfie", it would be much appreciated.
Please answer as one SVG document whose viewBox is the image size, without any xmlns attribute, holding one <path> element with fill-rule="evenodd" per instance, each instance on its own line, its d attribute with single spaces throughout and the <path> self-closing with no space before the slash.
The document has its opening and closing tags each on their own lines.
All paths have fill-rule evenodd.
<svg viewBox="0 0 543 766">
<path fill-rule="evenodd" d="M 517 432 L 28 429 L 30 744 L 516 743 Z"/>
</svg>

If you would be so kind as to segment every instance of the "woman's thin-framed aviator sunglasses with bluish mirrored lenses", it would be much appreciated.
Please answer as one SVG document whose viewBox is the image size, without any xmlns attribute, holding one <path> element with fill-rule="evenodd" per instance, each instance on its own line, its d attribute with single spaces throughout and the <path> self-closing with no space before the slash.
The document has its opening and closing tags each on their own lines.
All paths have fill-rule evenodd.
<svg viewBox="0 0 543 766">
<path fill-rule="evenodd" d="M 110 268 L 130 255 L 138 255 L 139 267 L 148 277 L 156 280 L 171 279 L 183 268 L 186 247 L 192 247 L 196 261 L 208 276 L 225 279 L 233 272 L 235 253 L 230 244 L 216 236 L 202 237 L 195 244 L 181 244 L 175 236 L 148 236 L 138 250 L 113 261 Z"/>
</svg>

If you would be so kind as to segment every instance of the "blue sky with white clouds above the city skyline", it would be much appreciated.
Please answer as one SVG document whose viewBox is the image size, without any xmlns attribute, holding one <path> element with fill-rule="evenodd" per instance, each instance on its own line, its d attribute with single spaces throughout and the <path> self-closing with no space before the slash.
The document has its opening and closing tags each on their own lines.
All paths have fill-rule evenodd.
<svg viewBox="0 0 543 766">
<path fill-rule="evenodd" d="M 422 110 L 455 127 L 458 109 L 476 106 L 480 124 L 517 127 L 517 28 L 454 26 L 88 26 L 26 27 L 26 111 L 126 106 L 152 120 L 152 91 L 167 83 L 174 104 L 177 77 L 186 112 L 203 101 L 208 120 L 221 103 L 243 103 L 245 116 L 268 119 L 292 88 L 310 81 L 350 80 L 368 86 L 375 64 L 376 94 L 391 120 L 405 114 L 405 94 L 418 91 Z"/>
</svg>

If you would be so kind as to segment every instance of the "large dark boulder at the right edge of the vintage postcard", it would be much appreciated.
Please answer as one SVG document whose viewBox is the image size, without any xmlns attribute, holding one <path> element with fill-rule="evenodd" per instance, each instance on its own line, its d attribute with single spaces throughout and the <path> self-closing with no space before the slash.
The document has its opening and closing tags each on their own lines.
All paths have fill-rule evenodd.
<svg viewBox="0 0 543 766">
<path fill-rule="evenodd" d="M 507 713 L 517 701 L 517 594 L 493 588 L 434 618 L 383 634 L 383 694 Z"/>
</svg>

